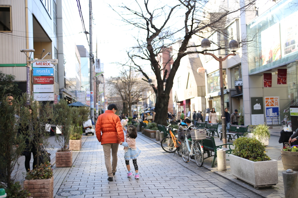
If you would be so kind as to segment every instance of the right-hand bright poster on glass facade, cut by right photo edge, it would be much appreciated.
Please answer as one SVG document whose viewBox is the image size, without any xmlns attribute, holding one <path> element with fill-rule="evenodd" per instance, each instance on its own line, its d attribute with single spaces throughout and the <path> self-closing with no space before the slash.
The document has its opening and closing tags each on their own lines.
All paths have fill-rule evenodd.
<svg viewBox="0 0 298 198">
<path fill-rule="evenodd" d="M 293 20 L 298 17 L 298 12 L 294 12 L 280 21 L 280 38 L 282 44 L 282 57 L 297 53 L 298 44 L 298 21 Z"/>
</svg>

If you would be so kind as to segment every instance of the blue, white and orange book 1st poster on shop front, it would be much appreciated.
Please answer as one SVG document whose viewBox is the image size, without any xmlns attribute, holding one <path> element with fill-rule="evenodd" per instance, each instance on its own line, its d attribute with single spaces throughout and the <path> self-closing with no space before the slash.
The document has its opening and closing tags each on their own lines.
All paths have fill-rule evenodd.
<svg viewBox="0 0 298 198">
<path fill-rule="evenodd" d="M 267 125 L 279 124 L 279 96 L 270 96 L 265 98 L 265 115 Z"/>
</svg>

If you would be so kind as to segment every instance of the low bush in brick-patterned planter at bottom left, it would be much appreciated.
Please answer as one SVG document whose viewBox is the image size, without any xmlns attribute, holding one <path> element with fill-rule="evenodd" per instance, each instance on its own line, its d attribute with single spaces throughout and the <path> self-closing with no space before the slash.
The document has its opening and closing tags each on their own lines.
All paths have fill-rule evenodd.
<svg viewBox="0 0 298 198">
<path fill-rule="evenodd" d="M 51 164 L 46 162 L 38 168 L 27 172 L 24 189 L 31 193 L 31 197 L 49 197 L 54 194 L 54 177 Z"/>
</svg>

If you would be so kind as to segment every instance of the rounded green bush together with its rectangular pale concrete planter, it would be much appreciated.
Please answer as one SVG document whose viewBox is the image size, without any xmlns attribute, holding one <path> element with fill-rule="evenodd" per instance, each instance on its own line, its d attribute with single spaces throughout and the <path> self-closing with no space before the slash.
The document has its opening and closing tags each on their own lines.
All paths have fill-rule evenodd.
<svg viewBox="0 0 298 198">
<path fill-rule="evenodd" d="M 277 161 L 266 155 L 265 146 L 256 138 L 240 137 L 233 143 L 231 173 L 255 188 L 278 183 Z"/>
</svg>

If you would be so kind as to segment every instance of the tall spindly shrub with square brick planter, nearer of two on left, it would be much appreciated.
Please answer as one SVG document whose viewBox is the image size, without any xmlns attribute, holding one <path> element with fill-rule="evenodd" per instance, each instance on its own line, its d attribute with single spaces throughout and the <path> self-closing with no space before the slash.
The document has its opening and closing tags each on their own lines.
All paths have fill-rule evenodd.
<svg viewBox="0 0 298 198">
<path fill-rule="evenodd" d="M 56 152 L 56 167 L 71 167 L 72 166 L 72 150 L 69 150 L 68 143 L 72 127 L 73 110 L 68 106 L 66 100 L 60 100 L 54 106 L 54 112 L 57 116 L 56 126 L 60 128 L 61 134 L 55 134 L 55 142 L 60 146 Z"/>
</svg>

